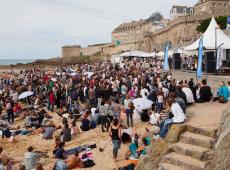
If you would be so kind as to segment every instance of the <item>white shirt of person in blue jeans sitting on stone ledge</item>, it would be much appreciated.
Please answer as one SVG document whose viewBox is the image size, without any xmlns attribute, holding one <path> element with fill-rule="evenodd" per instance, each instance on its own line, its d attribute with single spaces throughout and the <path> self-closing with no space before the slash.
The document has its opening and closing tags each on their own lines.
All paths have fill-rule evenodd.
<svg viewBox="0 0 230 170">
<path fill-rule="evenodd" d="M 171 111 L 174 117 L 172 118 L 173 123 L 182 123 L 186 120 L 186 116 L 178 103 L 173 103 Z"/>
</svg>

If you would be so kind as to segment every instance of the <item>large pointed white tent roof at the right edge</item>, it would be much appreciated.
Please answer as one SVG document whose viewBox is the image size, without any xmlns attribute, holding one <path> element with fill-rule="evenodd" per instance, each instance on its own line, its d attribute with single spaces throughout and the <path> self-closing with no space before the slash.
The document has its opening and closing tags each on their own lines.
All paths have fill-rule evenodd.
<svg viewBox="0 0 230 170">
<path fill-rule="evenodd" d="M 185 47 L 185 50 L 186 51 L 197 50 L 199 48 L 200 39 L 201 37 L 198 40 L 196 40 L 193 44 Z M 216 48 L 215 45 L 216 42 L 217 42 L 217 47 L 222 43 L 224 43 L 223 48 L 230 49 L 230 38 L 227 35 L 225 35 L 221 29 L 219 29 L 219 26 L 213 17 L 207 30 L 203 34 L 204 48 L 207 50 L 213 50 Z"/>
</svg>

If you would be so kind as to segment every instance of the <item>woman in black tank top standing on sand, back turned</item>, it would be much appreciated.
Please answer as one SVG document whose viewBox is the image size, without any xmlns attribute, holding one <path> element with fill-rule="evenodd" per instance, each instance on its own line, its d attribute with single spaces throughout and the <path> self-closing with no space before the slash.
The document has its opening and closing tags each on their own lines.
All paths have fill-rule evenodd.
<svg viewBox="0 0 230 170">
<path fill-rule="evenodd" d="M 116 161 L 118 150 L 121 145 L 121 127 L 117 118 L 113 120 L 113 123 L 109 129 L 109 136 L 111 137 L 113 143 L 113 159 Z"/>
</svg>

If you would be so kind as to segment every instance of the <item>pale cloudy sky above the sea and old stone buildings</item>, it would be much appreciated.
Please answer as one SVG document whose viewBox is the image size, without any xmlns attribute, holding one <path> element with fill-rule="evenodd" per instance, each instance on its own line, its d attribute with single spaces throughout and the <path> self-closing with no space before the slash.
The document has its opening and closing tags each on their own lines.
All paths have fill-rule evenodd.
<svg viewBox="0 0 230 170">
<path fill-rule="evenodd" d="M 172 5 L 197 0 L 6 0 L 0 1 L 0 59 L 61 56 L 64 45 L 111 42 L 121 23 L 159 11 L 169 17 Z"/>
</svg>

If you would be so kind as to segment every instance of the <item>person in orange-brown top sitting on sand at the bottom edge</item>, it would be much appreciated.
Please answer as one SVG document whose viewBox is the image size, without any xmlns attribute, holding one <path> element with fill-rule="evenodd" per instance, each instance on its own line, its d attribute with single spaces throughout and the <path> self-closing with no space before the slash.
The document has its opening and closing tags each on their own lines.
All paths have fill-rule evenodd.
<svg viewBox="0 0 230 170">
<path fill-rule="evenodd" d="M 79 153 L 76 151 L 74 155 L 69 156 L 65 160 L 68 169 L 73 169 L 73 168 L 82 168 L 83 164 L 81 161 L 81 158 L 79 158 Z"/>
</svg>

